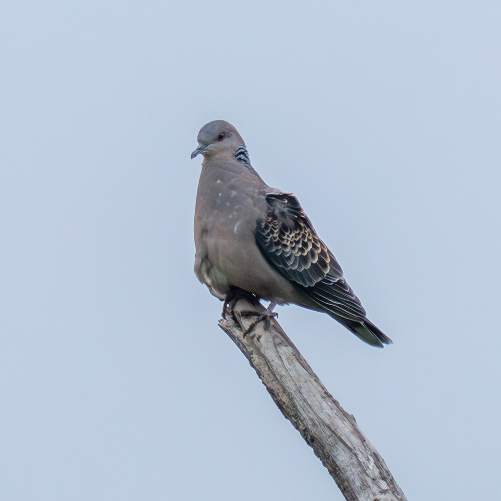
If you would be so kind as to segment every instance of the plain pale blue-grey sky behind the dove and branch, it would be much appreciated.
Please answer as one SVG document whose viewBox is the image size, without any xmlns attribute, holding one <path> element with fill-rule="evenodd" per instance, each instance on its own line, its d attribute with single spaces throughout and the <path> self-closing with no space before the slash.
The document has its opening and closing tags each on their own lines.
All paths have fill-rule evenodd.
<svg viewBox="0 0 501 501">
<path fill-rule="evenodd" d="M 206 122 L 299 197 L 369 318 L 280 322 L 410 499 L 497 501 L 499 2 L 0 6 L 0 498 L 342 496 L 217 327 Z"/>
</svg>

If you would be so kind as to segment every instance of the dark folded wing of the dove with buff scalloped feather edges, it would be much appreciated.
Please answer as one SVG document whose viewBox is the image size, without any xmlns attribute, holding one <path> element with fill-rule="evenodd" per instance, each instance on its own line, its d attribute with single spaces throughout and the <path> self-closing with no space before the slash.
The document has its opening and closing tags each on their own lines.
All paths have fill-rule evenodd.
<svg viewBox="0 0 501 501">
<path fill-rule="evenodd" d="M 266 193 L 256 242 L 267 261 L 327 312 L 362 321 L 365 310 L 292 193 Z"/>
</svg>

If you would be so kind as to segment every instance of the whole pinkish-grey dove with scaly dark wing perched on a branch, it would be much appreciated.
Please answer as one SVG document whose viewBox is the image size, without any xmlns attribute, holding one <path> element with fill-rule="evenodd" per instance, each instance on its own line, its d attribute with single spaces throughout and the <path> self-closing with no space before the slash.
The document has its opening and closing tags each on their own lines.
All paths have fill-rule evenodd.
<svg viewBox="0 0 501 501">
<path fill-rule="evenodd" d="M 275 306 L 323 312 L 362 341 L 392 341 L 366 317 L 343 271 L 293 193 L 268 186 L 245 142 L 224 120 L 205 124 L 191 159 L 201 154 L 195 203 L 194 272 L 226 306 L 238 293 Z M 263 317 L 263 316 L 262 316 Z"/>
</svg>

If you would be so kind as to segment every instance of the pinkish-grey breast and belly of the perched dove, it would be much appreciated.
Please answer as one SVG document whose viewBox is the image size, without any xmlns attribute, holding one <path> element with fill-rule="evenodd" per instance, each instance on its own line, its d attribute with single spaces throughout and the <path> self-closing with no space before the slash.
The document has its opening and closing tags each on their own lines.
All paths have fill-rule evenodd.
<svg viewBox="0 0 501 501">
<path fill-rule="evenodd" d="M 234 286 L 279 303 L 298 303 L 293 285 L 270 266 L 257 245 L 257 221 L 266 211 L 260 189 L 265 188 L 250 174 L 202 175 L 195 208 L 195 262 L 200 264 L 195 272 L 219 298 Z"/>
</svg>

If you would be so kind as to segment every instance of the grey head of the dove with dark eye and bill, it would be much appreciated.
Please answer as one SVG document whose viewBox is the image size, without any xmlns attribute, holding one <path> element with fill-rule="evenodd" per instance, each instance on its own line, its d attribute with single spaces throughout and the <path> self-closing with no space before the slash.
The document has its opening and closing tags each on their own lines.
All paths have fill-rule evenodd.
<svg viewBox="0 0 501 501">
<path fill-rule="evenodd" d="M 240 146 L 245 146 L 238 131 L 224 120 L 213 120 L 205 124 L 197 136 L 198 148 L 191 153 L 195 158 L 201 153 L 204 158 L 233 156 Z"/>
</svg>

